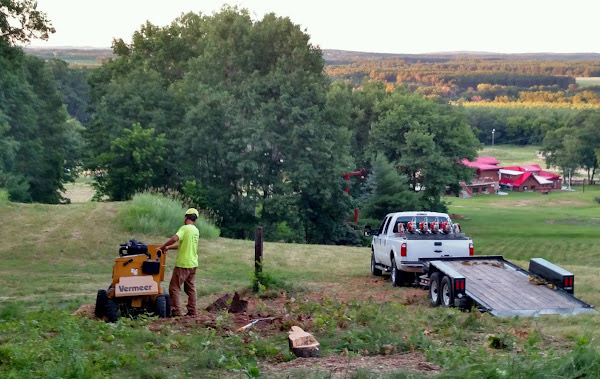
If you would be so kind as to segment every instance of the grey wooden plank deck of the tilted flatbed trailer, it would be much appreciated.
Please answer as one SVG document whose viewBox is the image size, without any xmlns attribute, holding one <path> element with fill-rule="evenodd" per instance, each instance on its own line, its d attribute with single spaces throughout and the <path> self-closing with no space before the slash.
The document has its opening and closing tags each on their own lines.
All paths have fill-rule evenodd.
<svg viewBox="0 0 600 379">
<path fill-rule="evenodd" d="M 596 313 L 589 304 L 534 278 L 501 256 L 445 258 L 429 264 L 463 276 L 466 295 L 495 316 Z"/>
</svg>

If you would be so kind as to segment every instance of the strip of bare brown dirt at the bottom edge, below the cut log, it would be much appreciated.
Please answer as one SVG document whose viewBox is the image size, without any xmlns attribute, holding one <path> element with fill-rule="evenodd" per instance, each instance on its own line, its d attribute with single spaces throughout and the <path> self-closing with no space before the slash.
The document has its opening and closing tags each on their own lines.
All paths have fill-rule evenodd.
<svg viewBox="0 0 600 379">
<path fill-rule="evenodd" d="M 328 371 L 332 378 L 345 378 L 348 374 L 352 374 L 359 369 L 379 373 L 409 370 L 431 375 L 440 372 L 439 367 L 427 362 L 425 356 L 418 352 L 368 357 L 329 355 L 324 358 L 298 358 L 293 361 L 267 364 L 262 367 L 267 376 L 298 369 Z"/>
</svg>

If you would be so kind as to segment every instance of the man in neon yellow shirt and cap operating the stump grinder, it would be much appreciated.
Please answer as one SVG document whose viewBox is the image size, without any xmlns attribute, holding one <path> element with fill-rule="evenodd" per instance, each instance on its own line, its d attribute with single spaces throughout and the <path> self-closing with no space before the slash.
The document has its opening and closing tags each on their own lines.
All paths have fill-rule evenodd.
<svg viewBox="0 0 600 379">
<path fill-rule="evenodd" d="M 196 315 L 196 268 L 198 267 L 198 238 L 200 233 L 194 225 L 198 219 L 198 211 L 190 208 L 185 212 L 185 225 L 165 242 L 160 250 L 179 250 L 175 260 L 175 269 L 169 283 L 169 296 L 171 297 L 171 314 L 173 317 L 182 316 L 179 305 L 181 285 L 188 296 L 187 316 Z M 174 243 L 179 241 L 179 246 Z"/>
</svg>

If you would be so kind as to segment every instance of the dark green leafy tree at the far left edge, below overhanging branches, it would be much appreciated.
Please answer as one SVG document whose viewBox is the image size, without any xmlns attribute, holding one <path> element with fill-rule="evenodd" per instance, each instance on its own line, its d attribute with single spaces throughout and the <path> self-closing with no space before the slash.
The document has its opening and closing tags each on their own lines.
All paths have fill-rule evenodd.
<svg viewBox="0 0 600 379">
<path fill-rule="evenodd" d="M 9 144 L 4 179 L 14 201 L 57 203 L 73 179 L 77 152 L 65 141 L 79 131 L 67 124 L 62 99 L 44 61 L 0 42 L 0 125 Z"/>
</svg>

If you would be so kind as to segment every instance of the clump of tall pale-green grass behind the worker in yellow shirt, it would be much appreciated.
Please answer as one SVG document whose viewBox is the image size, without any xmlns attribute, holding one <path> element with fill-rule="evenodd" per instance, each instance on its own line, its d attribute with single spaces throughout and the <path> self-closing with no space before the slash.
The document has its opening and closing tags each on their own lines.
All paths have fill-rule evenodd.
<svg viewBox="0 0 600 379">
<path fill-rule="evenodd" d="M 117 222 L 130 232 L 170 237 L 183 225 L 185 208 L 181 202 L 168 197 L 139 193 L 117 215 Z M 200 238 L 219 237 L 219 228 L 202 216 L 196 221 Z"/>
</svg>

